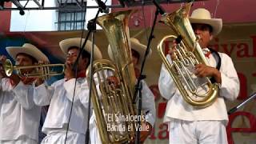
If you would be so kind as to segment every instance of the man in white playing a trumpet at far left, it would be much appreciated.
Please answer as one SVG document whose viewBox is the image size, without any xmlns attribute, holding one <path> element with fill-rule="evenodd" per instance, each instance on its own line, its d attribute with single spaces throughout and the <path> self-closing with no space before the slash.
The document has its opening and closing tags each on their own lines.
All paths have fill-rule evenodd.
<svg viewBox="0 0 256 144">
<path fill-rule="evenodd" d="M 16 66 L 32 66 L 38 61 L 49 62 L 45 54 L 29 43 L 23 46 L 6 47 Z M 2 65 L 6 56 L 1 55 Z M 0 143 L 38 143 L 38 126 L 41 107 L 33 101 L 34 78 L 11 74 L 8 78 L 1 67 L 0 88 Z M 30 74 L 34 69 L 23 69 L 21 74 Z"/>
</svg>

